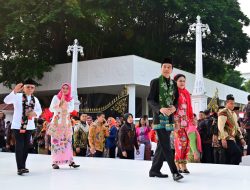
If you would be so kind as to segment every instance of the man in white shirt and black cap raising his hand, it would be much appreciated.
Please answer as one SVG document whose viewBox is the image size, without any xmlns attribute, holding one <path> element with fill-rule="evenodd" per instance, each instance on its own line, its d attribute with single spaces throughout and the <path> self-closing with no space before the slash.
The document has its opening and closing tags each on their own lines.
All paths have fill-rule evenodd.
<svg viewBox="0 0 250 190">
<path fill-rule="evenodd" d="M 26 168 L 26 160 L 32 130 L 35 129 L 34 118 L 38 118 L 42 113 L 39 100 L 33 96 L 36 85 L 37 83 L 35 81 L 27 79 L 24 84 L 17 84 L 14 90 L 4 98 L 6 104 L 14 105 L 11 129 L 16 139 L 15 147 L 18 175 L 29 173 L 29 170 Z"/>
</svg>

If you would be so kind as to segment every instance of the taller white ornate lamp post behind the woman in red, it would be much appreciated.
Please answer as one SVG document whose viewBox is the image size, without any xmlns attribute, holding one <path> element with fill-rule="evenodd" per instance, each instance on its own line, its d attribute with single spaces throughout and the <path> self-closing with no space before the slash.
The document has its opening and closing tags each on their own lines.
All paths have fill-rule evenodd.
<svg viewBox="0 0 250 190">
<path fill-rule="evenodd" d="M 207 97 L 205 96 L 205 85 L 203 78 L 203 60 L 202 60 L 202 38 L 206 38 L 211 33 L 208 24 L 201 23 L 201 17 L 198 15 L 196 23 L 189 26 L 187 36 L 192 33 L 196 36 L 195 46 L 195 83 L 192 93 L 192 104 L 194 112 L 204 111 L 207 108 Z"/>
</svg>

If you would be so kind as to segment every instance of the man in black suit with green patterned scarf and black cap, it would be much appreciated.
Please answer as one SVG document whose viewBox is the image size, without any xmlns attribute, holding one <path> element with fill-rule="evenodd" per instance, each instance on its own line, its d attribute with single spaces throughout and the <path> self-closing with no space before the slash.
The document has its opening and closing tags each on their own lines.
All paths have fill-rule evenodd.
<svg viewBox="0 0 250 190">
<path fill-rule="evenodd" d="M 174 80 L 170 78 L 173 71 L 173 62 L 165 58 L 161 64 L 161 75 L 150 83 L 148 103 L 154 114 L 154 130 L 157 133 L 158 143 L 150 177 L 166 178 L 168 175 L 160 172 L 164 161 L 168 162 L 173 179 L 178 181 L 183 176 L 178 172 L 170 146 L 170 134 L 174 129 L 174 113 L 178 107 L 178 88 Z"/>
</svg>

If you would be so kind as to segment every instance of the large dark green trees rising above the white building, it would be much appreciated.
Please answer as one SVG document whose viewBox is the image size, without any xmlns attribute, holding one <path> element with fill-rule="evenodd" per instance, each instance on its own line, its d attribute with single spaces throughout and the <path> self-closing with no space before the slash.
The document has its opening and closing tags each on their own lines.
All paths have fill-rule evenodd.
<svg viewBox="0 0 250 190">
<path fill-rule="evenodd" d="M 204 75 L 230 84 L 229 73 L 246 61 L 250 39 L 242 27 L 249 19 L 235 0 L 0 0 L 0 65 L 12 71 L 24 62 L 37 69 L 0 82 L 10 85 L 26 75 L 42 77 L 58 63 L 70 61 L 67 45 L 77 38 L 85 59 L 135 54 L 154 61 L 172 56 L 175 66 L 194 72 L 195 41 L 186 37 L 188 25 L 199 14 L 212 31 L 203 40 Z M 18 59 L 26 61 L 18 62 Z M 10 66 L 9 62 L 13 62 Z M 227 65 L 232 65 L 228 69 Z M 12 69 L 12 70 L 10 70 Z M 14 71 L 14 70 L 13 70 Z M 228 76 L 227 75 L 228 73 Z M 215 74 L 216 73 L 216 74 Z M 239 73 L 234 77 L 240 81 Z M 238 83 L 237 83 L 238 84 Z M 233 84 L 238 86 L 236 84 Z M 240 86 L 238 86 L 239 88 Z"/>
</svg>

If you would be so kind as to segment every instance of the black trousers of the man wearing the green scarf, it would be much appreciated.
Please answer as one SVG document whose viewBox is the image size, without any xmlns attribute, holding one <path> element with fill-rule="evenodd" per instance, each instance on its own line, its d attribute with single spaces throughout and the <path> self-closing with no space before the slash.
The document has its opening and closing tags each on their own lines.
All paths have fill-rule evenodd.
<svg viewBox="0 0 250 190">
<path fill-rule="evenodd" d="M 150 172 L 159 173 L 163 162 L 167 161 L 168 166 L 171 170 L 171 173 L 178 173 L 176 165 L 174 163 L 173 153 L 170 147 L 170 131 L 166 131 L 166 129 L 158 129 L 156 130 L 158 136 L 158 144 L 155 151 L 154 159 L 152 162 L 152 167 Z"/>
</svg>

